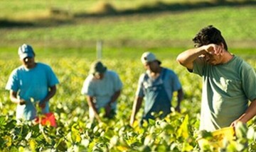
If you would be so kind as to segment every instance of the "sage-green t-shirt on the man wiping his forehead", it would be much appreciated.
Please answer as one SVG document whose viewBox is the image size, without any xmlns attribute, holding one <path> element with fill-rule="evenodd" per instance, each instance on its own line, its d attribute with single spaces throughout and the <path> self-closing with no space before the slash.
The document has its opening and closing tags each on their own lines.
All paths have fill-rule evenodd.
<svg viewBox="0 0 256 152">
<path fill-rule="evenodd" d="M 201 58 L 193 73 L 203 78 L 200 130 L 230 126 L 247 110 L 248 100 L 256 99 L 255 69 L 239 57 L 215 66 Z"/>
</svg>

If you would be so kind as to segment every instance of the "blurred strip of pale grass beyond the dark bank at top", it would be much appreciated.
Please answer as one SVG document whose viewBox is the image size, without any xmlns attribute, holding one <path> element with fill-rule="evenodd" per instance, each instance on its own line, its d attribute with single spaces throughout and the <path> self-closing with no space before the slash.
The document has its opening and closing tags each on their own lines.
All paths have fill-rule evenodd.
<svg viewBox="0 0 256 152">
<path fill-rule="evenodd" d="M 1 14 L 0 18 L 9 18 L 14 20 L 29 20 L 36 19 L 38 17 L 48 17 L 50 16 L 50 11 L 58 9 L 60 11 L 68 11 L 71 15 L 78 13 L 91 13 L 95 10 L 100 11 L 101 6 L 105 4 L 111 4 L 113 8 L 118 11 L 125 9 L 139 9 L 142 6 L 154 6 L 158 2 L 166 4 L 184 4 L 184 3 L 196 3 L 196 2 L 209 2 L 214 0 L 179 0 L 179 1 L 169 1 L 169 0 L 73 0 L 73 1 L 61 1 L 61 0 L 50 0 L 50 1 L 0 1 Z M 25 18 L 24 18 L 25 17 Z"/>
</svg>

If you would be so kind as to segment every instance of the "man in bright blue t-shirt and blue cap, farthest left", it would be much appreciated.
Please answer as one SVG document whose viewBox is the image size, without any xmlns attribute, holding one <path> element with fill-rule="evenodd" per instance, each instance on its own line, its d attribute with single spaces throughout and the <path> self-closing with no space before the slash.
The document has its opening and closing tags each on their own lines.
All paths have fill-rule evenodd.
<svg viewBox="0 0 256 152">
<path fill-rule="evenodd" d="M 16 119 L 33 120 L 37 116 L 36 104 L 43 114 L 50 112 L 48 101 L 55 95 L 59 81 L 50 66 L 35 62 L 36 54 L 30 45 L 21 45 L 18 55 L 22 65 L 11 72 L 6 90 L 17 104 Z"/>
</svg>

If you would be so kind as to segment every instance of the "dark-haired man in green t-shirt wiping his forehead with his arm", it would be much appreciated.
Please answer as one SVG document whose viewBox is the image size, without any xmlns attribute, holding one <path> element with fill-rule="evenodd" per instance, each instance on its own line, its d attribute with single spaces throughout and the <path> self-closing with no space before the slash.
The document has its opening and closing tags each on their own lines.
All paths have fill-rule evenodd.
<svg viewBox="0 0 256 152">
<path fill-rule="evenodd" d="M 228 51 L 213 25 L 201 29 L 193 42 L 195 48 L 179 54 L 177 61 L 203 78 L 200 130 L 235 127 L 252 119 L 256 115 L 255 69 Z"/>
</svg>

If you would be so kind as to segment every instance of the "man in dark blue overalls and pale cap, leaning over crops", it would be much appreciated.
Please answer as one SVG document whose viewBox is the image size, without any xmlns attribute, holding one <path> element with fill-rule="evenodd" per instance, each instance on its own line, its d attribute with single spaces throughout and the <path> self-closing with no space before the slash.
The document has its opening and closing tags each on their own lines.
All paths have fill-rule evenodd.
<svg viewBox="0 0 256 152">
<path fill-rule="evenodd" d="M 144 98 L 144 113 L 140 122 L 141 125 L 149 119 L 156 119 L 156 117 L 163 119 L 166 117 L 171 112 L 171 100 L 175 91 L 178 92 L 178 102 L 175 107 L 178 112 L 180 112 L 181 100 L 183 99 L 181 83 L 174 71 L 162 67 L 161 62 L 151 52 L 144 52 L 141 60 L 146 72 L 139 77 L 130 117 L 131 126 L 134 124 Z M 156 115 L 152 115 L 154 112 Z"/>
</svg>

